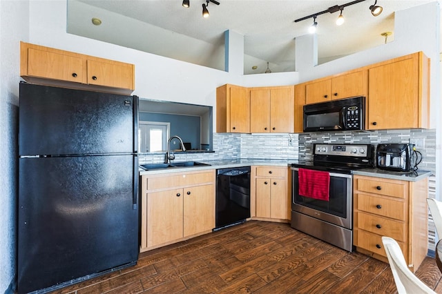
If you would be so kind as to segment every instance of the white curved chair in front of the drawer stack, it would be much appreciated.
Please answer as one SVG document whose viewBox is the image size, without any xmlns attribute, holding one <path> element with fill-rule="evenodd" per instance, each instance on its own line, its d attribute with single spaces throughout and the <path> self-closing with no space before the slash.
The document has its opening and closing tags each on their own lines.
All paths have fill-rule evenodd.
<svg viewBox="0 0 442 294">
<path fill-rule="evenodd" d="M 436 293 L 410 271 L 403 257 L 401 247 L 399 247 L 396 240 L 390 237 L 382 237 L 382 243 L 384 244 L 399 294 Z"/>
</svg>

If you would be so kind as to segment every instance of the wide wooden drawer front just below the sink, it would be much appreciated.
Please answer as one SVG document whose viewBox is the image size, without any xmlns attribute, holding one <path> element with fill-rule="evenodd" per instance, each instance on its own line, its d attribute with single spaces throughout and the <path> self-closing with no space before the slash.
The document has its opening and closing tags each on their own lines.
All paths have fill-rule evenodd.
<svg viewBox="0 0 442 294">
<path fill-rule="evenodd" d="M 147 190 L 164 188 L 176 188 L 182 186 L 195 186 L 198 184 L 209 184 L 214 182 L 213 173 L 191 173 L 171 174 L 164 177 L 148 177 Z"/>
</svg>

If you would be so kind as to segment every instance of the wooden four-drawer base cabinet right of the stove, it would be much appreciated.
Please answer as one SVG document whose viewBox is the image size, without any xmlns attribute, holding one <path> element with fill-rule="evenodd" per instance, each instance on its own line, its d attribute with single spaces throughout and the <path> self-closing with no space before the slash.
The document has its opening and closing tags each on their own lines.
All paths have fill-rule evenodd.
<svg viewBox="0 0 442 294">
<path fill-rule="evenodd" d="M 411 271 L 427 255 L 427 179 L 354 176 L 356 251 L 388 262 L 381 237 L 396 239 Z"/>
</svg>

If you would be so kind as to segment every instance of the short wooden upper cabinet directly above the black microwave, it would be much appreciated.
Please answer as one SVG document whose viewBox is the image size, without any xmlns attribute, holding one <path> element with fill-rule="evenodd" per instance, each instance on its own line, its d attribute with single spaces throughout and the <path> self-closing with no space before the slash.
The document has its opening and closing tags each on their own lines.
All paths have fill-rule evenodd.
<svg viewBox="0 0 442 294">
<path fill-rule="evenodd" d="M 366 95 L 367 70 L 318 79 L 305 86 L 306 104 Z"/>
</svg>

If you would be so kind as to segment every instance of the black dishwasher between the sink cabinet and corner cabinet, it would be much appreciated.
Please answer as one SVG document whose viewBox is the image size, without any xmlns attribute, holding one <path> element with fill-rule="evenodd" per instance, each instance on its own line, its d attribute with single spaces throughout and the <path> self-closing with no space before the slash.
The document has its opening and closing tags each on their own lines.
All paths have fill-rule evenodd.
<svg viewBox="0 0 442 294">
<path fill-rule="evenodd" d="M 216 170 L 215 230 L 250 217 L 250 166 Z"/>
</svg>

